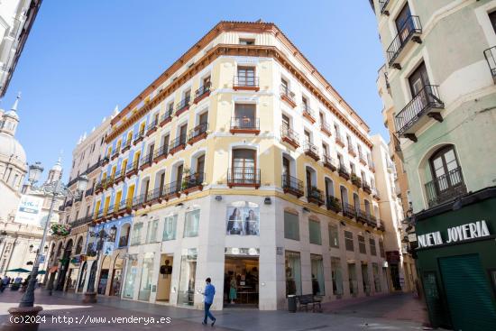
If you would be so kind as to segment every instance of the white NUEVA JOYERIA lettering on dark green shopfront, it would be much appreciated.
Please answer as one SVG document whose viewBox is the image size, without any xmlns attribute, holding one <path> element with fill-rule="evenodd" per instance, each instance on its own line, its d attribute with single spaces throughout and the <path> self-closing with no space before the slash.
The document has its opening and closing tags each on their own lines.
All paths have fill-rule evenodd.
<svg viewBox="0 0 496 331">
<path fill-rule="evenodd" d="M 418 235 L 418 248 L 437 246 L 440 244 L 455 244 L 469 239 L 491 235 L 486 221 L 477 221 L 464 225 L 447 228 L 447 239 L 444 241 L 440 231 Z"/>
</svg>

